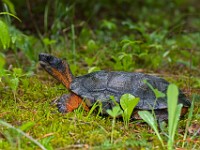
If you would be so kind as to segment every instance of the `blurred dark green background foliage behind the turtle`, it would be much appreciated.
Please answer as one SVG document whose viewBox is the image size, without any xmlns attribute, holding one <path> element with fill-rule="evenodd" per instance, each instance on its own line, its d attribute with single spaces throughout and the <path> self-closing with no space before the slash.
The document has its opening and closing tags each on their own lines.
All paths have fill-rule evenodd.
<svg viewBox="0 0 200 150">
<path fill-rule="evenodd" d="M 197 0 L 2 0 L 0 8 L 9 13 L 0 15 L 6 69 L 33 71 L 38 54 L 47 52 L 66 58 L 77 74 L 162 69 L 199 75 Z"/>
</svg>

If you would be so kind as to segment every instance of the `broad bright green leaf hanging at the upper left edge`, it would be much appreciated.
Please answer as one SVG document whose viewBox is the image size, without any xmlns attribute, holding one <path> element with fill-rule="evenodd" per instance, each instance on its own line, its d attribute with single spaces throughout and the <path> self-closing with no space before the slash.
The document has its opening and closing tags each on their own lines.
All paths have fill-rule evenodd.
<svg viewBox="0 0 200 150">
<path fill-rule="evenodd" d="M 6 49 L 10 46 L 10 34 L 7 24 L 0 20 L 0 42 L 3 46 L 3 49 Z"/>
</svg>

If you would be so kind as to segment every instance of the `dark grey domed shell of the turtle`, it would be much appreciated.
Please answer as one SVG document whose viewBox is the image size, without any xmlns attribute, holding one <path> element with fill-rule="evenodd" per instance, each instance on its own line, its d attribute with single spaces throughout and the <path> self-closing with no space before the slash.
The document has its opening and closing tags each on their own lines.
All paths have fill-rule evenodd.
<svg viewBox="0 0 200 150">
<path fill-rule="evenodd" d="M 93 105 L 97 100 L 100 100 L 104 110 L 114 106 L 110 96 L 114 96 L 115 100 L 119 103 L 120 97 L 125 93 L 130 93 L 140 98 L 136 106 L 137 109 L 166 109 L 166 96 L 156 100 L 154 92 L 144 83 L 144 80 L 150 83 L 153 88 L 166 94 L 169 85 L 166 80 L 147 74 L 121 71 L 99 71 L 76 77 L 73 79 L 70 89 L 85 99 L 89 106 Z M 185 107 L 190 106 L 190 101 L 180 90 L 178 103 L 182 103 Z"/>
</svg>

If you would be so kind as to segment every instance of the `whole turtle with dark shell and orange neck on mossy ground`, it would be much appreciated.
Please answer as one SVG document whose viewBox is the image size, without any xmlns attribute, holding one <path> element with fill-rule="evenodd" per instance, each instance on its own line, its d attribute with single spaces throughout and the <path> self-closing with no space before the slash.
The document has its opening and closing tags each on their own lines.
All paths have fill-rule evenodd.
<svg viewBox="0 0 200 150">
<path fill-rule="evenodd" d="M 140 101 L 135 107 L 132 117 L 140 119 L 138 110 L 149 110 L 152 108 L 159 120 L 167 119 L 167 98 L 158 98 L 150 87 L 144 83 L 146 80 L 153 88 L 166 94 L 169 83 L 159 77 L 122 71 L 98 71 L 79 77 L 74 77 L 69 65 L 52 55 L 41 53 L 39 55 L 41 66 L 58 81 L 60 81 L 70 94 L 62 95 L 58 102 L 58 110 L 62 113 L 71 112 L 82 105 L 85 110 L 97 101 L 102 102 L 104 112 L 114 106 L 110 96 L 114 96 L 119 103 L 120 97 L 125 93 L 130 93 L 139 97 Z M 191 103 L 181 90 L 179 90 L 178 103 L 183 104 L 181 116 L 183 116 Z"/>
</svg>

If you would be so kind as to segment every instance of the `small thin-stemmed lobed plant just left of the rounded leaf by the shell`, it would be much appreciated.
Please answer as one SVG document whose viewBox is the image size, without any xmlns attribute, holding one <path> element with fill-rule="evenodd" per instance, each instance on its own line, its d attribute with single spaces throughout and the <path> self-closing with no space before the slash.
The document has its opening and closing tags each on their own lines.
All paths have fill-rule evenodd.
<svg viewBox="0 0 200 150">
<path fill-rule="evenodd" d="M 113 117 L 112 120 L 112 131 L 111 131 L 111 143 L 113 144 L 113 134 L 114 134 L 114 129 L 115 129 L 115 122 L 116 122 L 116 117 L 122 114 L 122 110 L 120 106 L 115 106 L 111 109 L 107 110 L 107 113 Z"/>
</svg>

